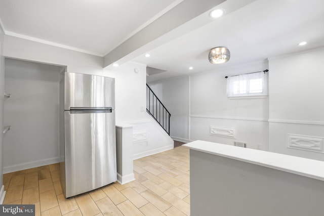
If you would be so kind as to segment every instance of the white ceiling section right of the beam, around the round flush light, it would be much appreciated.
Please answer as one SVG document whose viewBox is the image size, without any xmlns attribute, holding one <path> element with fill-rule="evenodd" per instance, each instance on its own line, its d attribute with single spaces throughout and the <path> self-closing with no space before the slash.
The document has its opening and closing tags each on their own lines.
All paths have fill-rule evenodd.
<svg viewBox="0 0 324 216">
<path fill-rule="evenodd" d="M 308 44 L 300 47 L 301 41 Z M 219 65 L 209 63 L 210 49 L 219 46 L 230 50 L 230 60 Z M 134 61 L 167 70 L 148 76 L 149 82 L 322 46 L 324 1 L 258 0 L 151 50 L 149 58 L 142 55 Z M 188 69 L 190 66 L 193 70 Z"/>
</svg>

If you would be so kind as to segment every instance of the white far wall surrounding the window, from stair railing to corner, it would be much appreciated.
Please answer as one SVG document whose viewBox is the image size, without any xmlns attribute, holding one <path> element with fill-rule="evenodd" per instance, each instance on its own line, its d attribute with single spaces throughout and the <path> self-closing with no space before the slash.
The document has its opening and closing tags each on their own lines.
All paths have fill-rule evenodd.
<svg viewBox="0 0 324 216">
<path fill-rule="evenodd" d="M 268 149 L 268 98 L 228 99 L 225 76 L 263 71 L 268 64 L 218 69 L 189 77 L 149 83 L 171 112 L 171 136 L 180 141 L 206 140 L 233 145 L 247 142 L 248 148 Z M 190 110 L 190 113 L 189 111 Z M 234 138 L 210 135 L 210 126 L 235 128 Z M 189 128 L 189 133 L 188 133 Z"/>
</svg>

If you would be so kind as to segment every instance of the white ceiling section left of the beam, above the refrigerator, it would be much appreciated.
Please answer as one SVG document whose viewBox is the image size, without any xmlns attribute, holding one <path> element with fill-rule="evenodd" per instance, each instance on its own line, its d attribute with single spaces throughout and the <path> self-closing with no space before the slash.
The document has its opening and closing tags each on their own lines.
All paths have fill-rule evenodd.
<svg viewBox="0 0 324 216">
<path fill-rule="evenodd" d="M 104 56 L 179 0 L 0 0 L 6 33 Z M 144 25 L 144 26 L 143 26 Z"/>
</svg>

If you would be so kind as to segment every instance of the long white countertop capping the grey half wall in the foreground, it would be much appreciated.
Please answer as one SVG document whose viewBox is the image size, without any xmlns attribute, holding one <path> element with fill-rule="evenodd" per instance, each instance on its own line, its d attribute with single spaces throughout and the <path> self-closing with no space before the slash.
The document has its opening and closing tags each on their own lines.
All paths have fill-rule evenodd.
<svg viewBox="0 0 324 216">
<path fill-rule="evenodd" d="M 200 140 L 183 146 L 324 181 L 324 161 Z"/>
</svg>

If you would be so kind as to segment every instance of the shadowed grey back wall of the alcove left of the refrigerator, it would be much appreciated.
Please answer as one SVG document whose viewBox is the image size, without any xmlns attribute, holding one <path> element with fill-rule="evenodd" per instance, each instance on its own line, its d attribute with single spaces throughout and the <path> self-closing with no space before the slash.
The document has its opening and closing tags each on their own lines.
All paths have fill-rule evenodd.
<svg viewBox="0 0 324 216">
<path fill-rule="evenodd" d="M 59 155 L 59 72 L 64 67 L 15 59 L 5 61 L 4 173 L 44 163 Z"/>
</svg>

